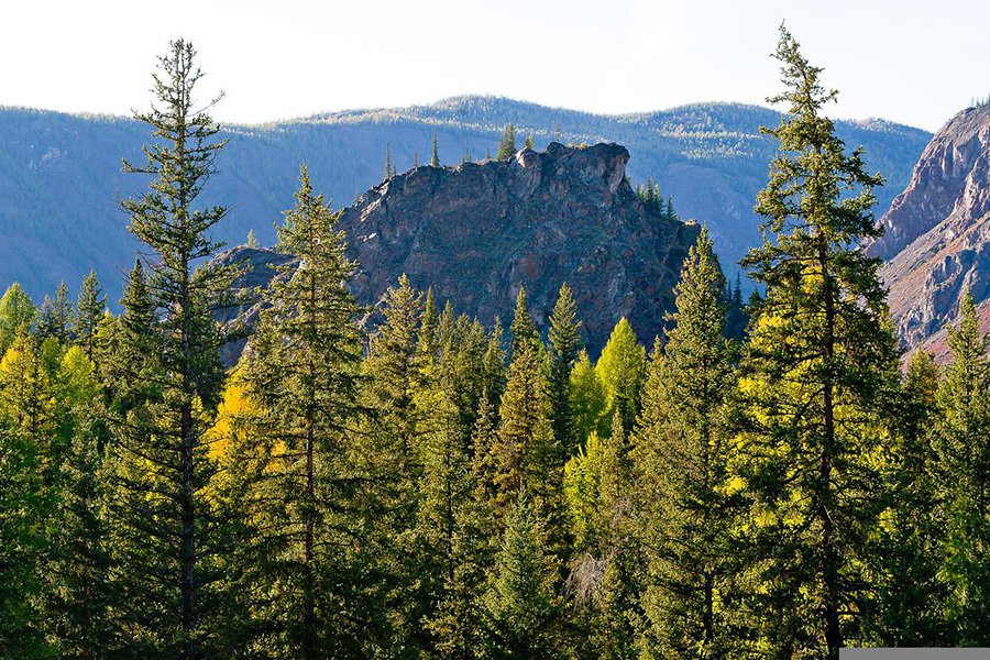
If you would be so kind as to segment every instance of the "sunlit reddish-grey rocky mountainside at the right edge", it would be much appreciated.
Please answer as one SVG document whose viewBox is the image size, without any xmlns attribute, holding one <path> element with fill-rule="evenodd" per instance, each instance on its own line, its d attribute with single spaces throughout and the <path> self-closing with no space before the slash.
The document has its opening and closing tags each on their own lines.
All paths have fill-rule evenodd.
<svg viewBox="0 0 990 660">
<path fill-rule="evenodd" d="M 990 107 L 964 110 L 938 131 L 880 224 L 886 235 L 867 252 L 887 261 L 891 312 L 909 346 L 954 319 L 966 289 L 988 304 Z"/>
</svg>

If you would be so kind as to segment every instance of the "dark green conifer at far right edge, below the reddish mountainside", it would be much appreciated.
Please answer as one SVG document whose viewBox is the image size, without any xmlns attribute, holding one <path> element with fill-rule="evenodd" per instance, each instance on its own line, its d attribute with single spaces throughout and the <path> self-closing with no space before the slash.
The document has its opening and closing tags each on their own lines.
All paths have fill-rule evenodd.
<svg viewBox="0 0 990 660">
<path fill-rule="evenodd" d="M 938 387 L 936 449 L 945 484 L 942 573 L 949 588 L 952 644 L 990 644 L 990 336 L 979 329 L 969 292 L 949 327 L 952 363 Z"/>
</svg>

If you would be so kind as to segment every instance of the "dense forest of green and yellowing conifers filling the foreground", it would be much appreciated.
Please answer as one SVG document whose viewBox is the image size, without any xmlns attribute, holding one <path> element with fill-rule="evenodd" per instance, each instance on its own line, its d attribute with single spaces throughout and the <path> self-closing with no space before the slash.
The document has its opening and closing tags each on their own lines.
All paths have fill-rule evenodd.
<svg viewBox="0 0 990 660">
<path fill-rule="evenodd" d="M 109 209 L 141 245 L 121 298 L 80 273 L 0 299 L 0 658 L 990 646 L 990 340 L 967 296 L 947 360 L 902 346 L 860 249 L 883 174 L 784 28 L 774 57 L 754 293 L 702 226 L 664 332 L 616 318 L 596 354 L 573 283 L 543 328 L 525 287 L 504 323 L 406 276 L 360 305 L 302 163 L 270 219 L 294 258 L 241 286 L 201 197 L 227 143 L 172 42 L 122 163 L 144 191 Z M 638 197 L 680 222 L 662 185 Z"/>
</svg>

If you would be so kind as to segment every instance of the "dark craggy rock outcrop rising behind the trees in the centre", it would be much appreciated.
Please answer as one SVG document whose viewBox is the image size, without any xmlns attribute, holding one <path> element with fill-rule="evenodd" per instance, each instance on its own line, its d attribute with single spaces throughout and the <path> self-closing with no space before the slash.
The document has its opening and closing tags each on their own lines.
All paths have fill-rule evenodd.
<svg viewBox="0 0 990 660">
<path fill-rule="evenodd" d="M 551 143 L 507 162 L 394 176 L 343 211 L 348 252 L 360 264 L 354 294 L 374 304 L 406 273 L 417 288 L 432 286 L 440 305 L 450 299 L 459 312 L 507 323 L 525 286 L 546 329 L 566 282 L 592 351 L 622 316 L 649 343 L 672 308 L 697 226 L 644 207 L 625 176 L 628 160 L 615 144 Z M 239 248 L 218 258 L 241 256 L 263 264 L 274 255 Z"/>
</svg>

